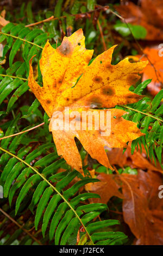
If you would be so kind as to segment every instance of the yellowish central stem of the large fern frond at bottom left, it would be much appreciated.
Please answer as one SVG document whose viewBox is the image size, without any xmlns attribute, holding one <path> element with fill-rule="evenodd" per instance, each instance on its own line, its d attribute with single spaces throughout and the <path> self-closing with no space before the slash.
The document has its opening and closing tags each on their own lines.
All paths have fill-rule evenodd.
<svg viewBox="0 0 163 256">
<path fill-rule="evenodd" d="M 78 216 L 77 212 L 73 209 L 73 207 L 71 206 L 71 204 L 68 203 L 68 201 L 64 198 L 64 196 L 62 196 L 62 194 L 57 190 L 57 188 L 55 188 L 55 187 L 54 187 L 41 173 L 39 173 L 33 166 L 30 166 L 29 163 L 27 163 L 26 161 L 22 160 L 20 157 L 14 155 L 14 154 L 12 154 L 12 153 L 10 153 L 10 152 L 9 152 L 8 150 L 6 150 L 6 149 L 3 149 L 3 148 L 0 147 L 0 150 L 2 150 L 3 152 L 9 154 L 9 155 L 12 156 L 12 157 L 15 157 L 17 160 L 21 161 L 22 163 L 26 164 L 29 168 L 31 168 L 32 170 L 34 170 L 34 172 L 37 173 L 43 180 L 45 180 L 45 181 L 47 182 L 47 184 L 48 184 L 49 186 L 51 186 L 55 192 L 57 192 L 57 194 L 59 194 L 59 196 L 65 201 L 65 203 L 66 203 L 66 204 L 70 207 L 70 209 L 73 211 L 74 215 L 76 215 L 76 217 L 78 218 L 79 222 L 83 225 L 83 228 L 84 228 L 84 230 L 86 231 L 86 234 L 87 234 L 87 236 L 89 237 L 89 239 L 90 239 L 90 241 L 91 241 L 91 244 L 94 245 L 94 243 L 93 243 L 93 241 L 92 241 L 92 239 L 91 239 L 90 234 L 88 233 L 88 231 L 87 231 L 87 229 L 86 229 L 84 223 L 82 222 L 82 220 L 81 220 L 80 217 Z"/>
</svg>

